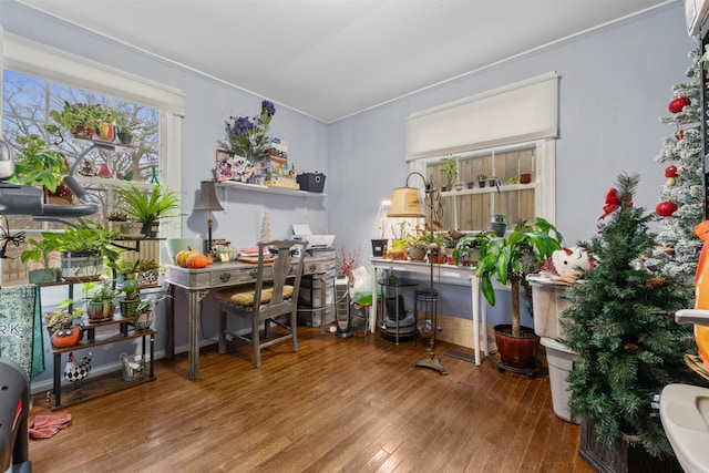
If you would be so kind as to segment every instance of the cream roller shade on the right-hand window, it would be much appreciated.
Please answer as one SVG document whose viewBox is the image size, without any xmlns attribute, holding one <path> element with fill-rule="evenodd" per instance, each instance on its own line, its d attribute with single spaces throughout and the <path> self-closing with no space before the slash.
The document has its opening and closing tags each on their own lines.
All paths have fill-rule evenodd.
<svg viewBox="0 0 709 473">
<path fill-rule="evenodd" d="M 557 137 L 558 75 L 548 72 L 407 119 L 407 161 Z"/>
</svg>

